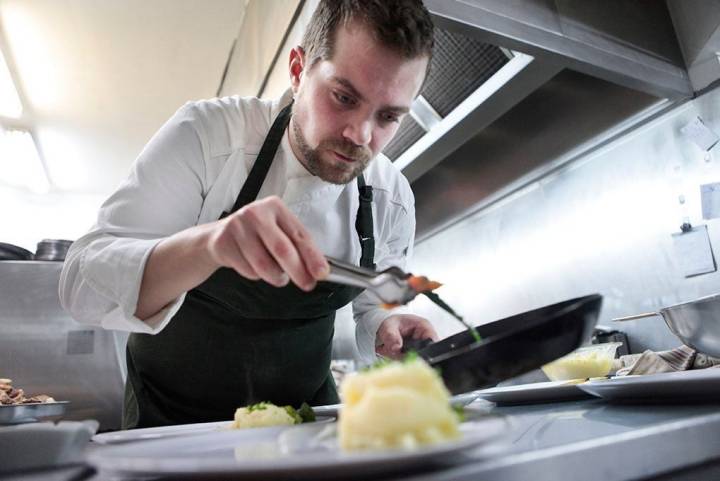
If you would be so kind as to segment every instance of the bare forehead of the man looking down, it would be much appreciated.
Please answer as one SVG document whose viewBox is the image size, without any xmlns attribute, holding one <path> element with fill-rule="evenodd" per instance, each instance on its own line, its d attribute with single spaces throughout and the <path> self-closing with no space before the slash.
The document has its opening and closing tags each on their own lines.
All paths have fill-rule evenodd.
<svg viewBox="0 0 720 481">
<path fill-rule="evenodd" d="M 330 60 L 318 73 L 352 84 L 368 102 L 409 107 L 422 85 L 427 57 L 408 59 L 381 45 L 362 24 L 339 26 Z"/>
</svg>

